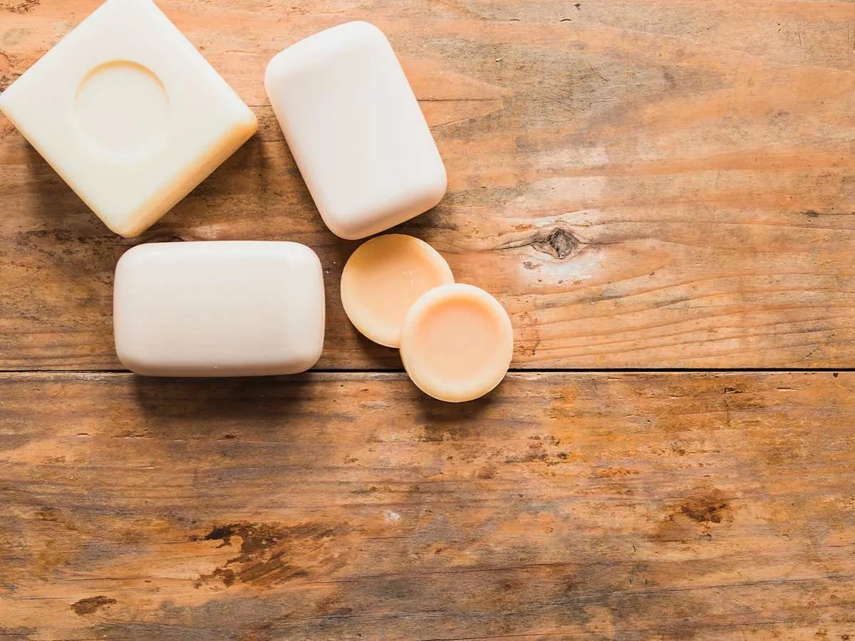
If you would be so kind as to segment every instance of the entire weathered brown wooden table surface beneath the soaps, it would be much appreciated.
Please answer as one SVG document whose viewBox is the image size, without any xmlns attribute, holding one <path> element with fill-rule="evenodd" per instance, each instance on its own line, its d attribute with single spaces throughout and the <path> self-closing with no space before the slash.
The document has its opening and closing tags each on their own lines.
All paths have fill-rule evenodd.
<svg viewBox="0 0 855 641">
<path fill-rule="evenodd" d="M 125 240 L 0 117 L 0 638 L 855 638 L 855 3 L 160 4 L 261 128 Z M 0 0 L 0 89 L 96 6 Z M 515 326 L 475 403 L 348 324 L 262 88 L 352 19 Z M 123 372 L 121 253 L 243 238 L 321 256 L 317 372 Z"/>
</svg>

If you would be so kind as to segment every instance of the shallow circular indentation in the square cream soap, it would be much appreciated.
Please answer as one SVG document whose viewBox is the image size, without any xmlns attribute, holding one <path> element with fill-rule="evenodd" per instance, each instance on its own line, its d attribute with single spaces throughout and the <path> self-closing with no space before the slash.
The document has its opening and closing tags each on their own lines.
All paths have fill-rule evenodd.
<svg viewBox="0 0 855 641">
<path fill-rule="evenodd" d="M 169 98 L 150 69 L 137 62 L 108 62 L 92 69 L 80 83 L 74 115 L 99 150 L 139 156 L 162 142 Z"/>
</svg>

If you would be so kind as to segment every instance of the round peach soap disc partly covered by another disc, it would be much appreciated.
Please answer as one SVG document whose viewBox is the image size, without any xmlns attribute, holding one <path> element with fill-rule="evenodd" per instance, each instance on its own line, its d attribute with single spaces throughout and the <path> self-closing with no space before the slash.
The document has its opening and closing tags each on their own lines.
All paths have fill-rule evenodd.
<svg viewBox="0 0 855 641">
<path fill-rule="evenodd" d="M 401 344 L 404 316 L 428 290 L 454 282 L 445 258 L 412 236 L 390 233 L 361 244 L 341 274 L 341 303 L 356 328 L 386 347 Z"/>
</svg>

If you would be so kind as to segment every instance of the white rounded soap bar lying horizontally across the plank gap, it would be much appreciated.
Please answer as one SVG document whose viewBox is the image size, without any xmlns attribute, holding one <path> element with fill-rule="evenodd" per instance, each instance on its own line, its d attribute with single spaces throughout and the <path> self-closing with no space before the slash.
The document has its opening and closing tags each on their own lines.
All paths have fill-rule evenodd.
<svg viewBox="0 0 855 641">
<path fill-rule="evenodd" d="M 298 243 L 138 245 L 115 268 L 113 324 L 135 373 L 302 372 L 323 348 L 321 262 Z"/>
</svg>

